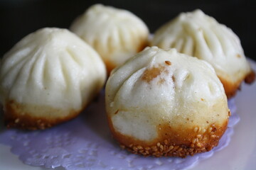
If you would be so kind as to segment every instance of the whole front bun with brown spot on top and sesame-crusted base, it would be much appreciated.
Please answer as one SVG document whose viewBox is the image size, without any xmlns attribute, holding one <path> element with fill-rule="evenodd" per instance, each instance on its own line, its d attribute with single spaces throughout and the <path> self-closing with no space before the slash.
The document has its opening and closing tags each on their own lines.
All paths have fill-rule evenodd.
<svg viewBox="0 0 256 170">
<path fill-rule="evenodd" d="M 228 125 L 227 97 L 213 67 L 175 49 L 147 47 L 114 69 L 105 92 L 112 134 L 133 153 L 206 152 Z"/>
</svg>

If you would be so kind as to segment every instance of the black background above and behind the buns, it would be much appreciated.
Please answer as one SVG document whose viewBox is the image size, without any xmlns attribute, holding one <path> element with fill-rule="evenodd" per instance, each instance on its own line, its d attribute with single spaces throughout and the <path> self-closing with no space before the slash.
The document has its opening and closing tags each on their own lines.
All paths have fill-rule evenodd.
<svg viewBox="0 0 256 170">
<path fill-rule="evenodd" d="M 255 1 L 242 0 L 0 0 L 0 57 L 28 33 L 43 27 L 69 28 L 70 23 L 92 4 L 101 3 L 132 11 L 151 33 L 183 11 L 201 8 L 240 38 L 247 57 L 256 60 Z"/>
</svg>

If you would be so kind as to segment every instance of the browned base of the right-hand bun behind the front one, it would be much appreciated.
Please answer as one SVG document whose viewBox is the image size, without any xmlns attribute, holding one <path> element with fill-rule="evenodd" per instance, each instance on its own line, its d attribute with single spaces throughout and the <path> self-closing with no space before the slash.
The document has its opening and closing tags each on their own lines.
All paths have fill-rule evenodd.
<svg viewBox="0 0 256 170">
<path fill-rule="evenodd" d="M 238 89 L 240 89 L 240 84 L 242 83 L 242 81 L 245 81 L 245 83 L 247 84 L 252 84 L 252 82 L 255 81 L 255 72 L 253 72 L 252 70 L 249 74 L 245 75 L 244 78 L 240 79 L 236 83 L 229 82 L 222 77 L 219 77 L 219 79 L 224 86 L 225 94 L 227 95 L 227 97 L 232 98 L 233 96 L 235 96 Z"/>
</svg>

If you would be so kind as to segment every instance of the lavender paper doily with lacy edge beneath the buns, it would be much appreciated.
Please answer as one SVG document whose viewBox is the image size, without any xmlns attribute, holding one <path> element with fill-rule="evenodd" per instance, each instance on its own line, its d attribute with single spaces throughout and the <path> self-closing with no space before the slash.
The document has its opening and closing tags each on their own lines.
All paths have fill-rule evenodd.
<svg viewBox="0 0 256 170">
<path fill-rule="evenodd" d="M 142 157 L 120 149 L 112 140 L 105 115 L 104 95 L 78 118 L 48 130 L 1 130 L 0 143 L 25 164 L 67 170 L 82 169 L 189 169 L 202 159 L 228 146 L 233 126 L 240 120 L 234 99 L 228 102 L 232 115 L 218 147 L 210 152 L 181 159 Z"/>
</svg>

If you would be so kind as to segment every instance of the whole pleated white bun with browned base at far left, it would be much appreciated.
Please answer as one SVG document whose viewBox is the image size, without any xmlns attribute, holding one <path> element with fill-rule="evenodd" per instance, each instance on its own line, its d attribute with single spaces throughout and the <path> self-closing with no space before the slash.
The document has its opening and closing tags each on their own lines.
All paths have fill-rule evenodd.
<svg viewBox="0 0 256 170">
<path fill-rule="evenodd" d="M 44 129 L 74 118 L 105 84 L 104 62 L 77 35 L 43 28 L 18 42 L 0 65 L 7 127 Z"/>
</svg>

